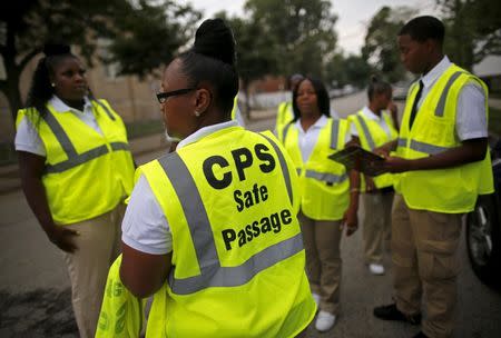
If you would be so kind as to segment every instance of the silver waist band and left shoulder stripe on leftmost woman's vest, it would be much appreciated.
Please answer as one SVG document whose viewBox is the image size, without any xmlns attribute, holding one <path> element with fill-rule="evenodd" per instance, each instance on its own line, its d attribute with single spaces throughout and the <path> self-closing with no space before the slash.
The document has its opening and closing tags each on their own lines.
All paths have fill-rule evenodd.
<svg viewBox="0 0 501 338">
<path fill-rule="evenodd" d="M 46 173 L 62 172 L 109 152 L 108 147 L 102 145 L 97 148 L 87 150 L 86 152 L 77 153 L 77 150 L 75 149 L 73 143 L 71 143 L 65 129 L 62 129 L 61 125 L 53 117 L 52 112 L 49 109 L 46 108 L 42 118 L 46 121 L 47 126 L 49 126 L 50 130 L 52 130 L 52 133 L 56 136 L 56 139 L 61 145 L 62 149 L 66 152 L 66 156 L 68 157 L 66 161 L 56 165 L 47 165 L 45 169 Z M 114 151 L 129 150 L 129 145 L 126 142 L 111 142 L 110 147 Z"/>
</svg>

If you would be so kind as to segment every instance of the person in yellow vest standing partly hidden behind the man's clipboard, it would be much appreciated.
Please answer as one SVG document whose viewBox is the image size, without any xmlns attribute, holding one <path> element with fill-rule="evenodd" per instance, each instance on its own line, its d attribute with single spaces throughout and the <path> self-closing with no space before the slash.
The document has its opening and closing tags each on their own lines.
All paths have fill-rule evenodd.
<svg viewBox="0 0 501 338">
<path fill-rule="evenodd" d="M 354 145 L 373 151 L 399 136 L 391 112 L 386 110 L 392 101 L 390 83 L 372 77 L 367 88 L 369 105 L 351 115 L 351 133 Z M 377 177 L 363 176 L 362 200 L 364 203 L 363 238 L 364 258 L 373 275 L 383 275 L 385 241 L 391 239 L 391 212 L 393 202 L 393 177 L 383 173 Z"/>
</svg>

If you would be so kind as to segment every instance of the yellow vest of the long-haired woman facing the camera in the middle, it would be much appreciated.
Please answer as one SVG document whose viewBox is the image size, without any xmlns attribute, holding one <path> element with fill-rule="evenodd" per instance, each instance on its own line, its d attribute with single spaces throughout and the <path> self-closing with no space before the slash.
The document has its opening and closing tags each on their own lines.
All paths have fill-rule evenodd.
<svg viewBox="0 0 501 338">
<path fill-rule="evenodd" d="M 350 178 L 343 165 L 327 157 L 344 149 L 350 123 L 328 118 L 306 162 L 299 149 L 299 131 L 288 123 L 278 135 L 299 173 L 301 210 L 316 220 L 340 220 L 350 203 Z"/>
</svg>

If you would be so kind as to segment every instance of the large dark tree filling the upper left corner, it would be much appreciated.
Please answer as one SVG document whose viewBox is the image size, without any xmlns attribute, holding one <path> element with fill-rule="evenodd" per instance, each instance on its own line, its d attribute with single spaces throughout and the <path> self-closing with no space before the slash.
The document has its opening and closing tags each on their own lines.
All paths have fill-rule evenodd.
<svg viewBox="0 0 501 338">
<path fill-rule="evenodd" d="M 0 7 L 0 54 L 7 79 L 0 91 L 8 98 L 12 117 L 22 107 L 19 79 L 22 70 L 47 40 L 80 48 L 92 64 L 98 38 L 111 41 L 120 73 L 145 73 L 171 58 L 185 44 L 199 14 L 175 1 L 127 0 L 17 0 Z"/>
</svg>

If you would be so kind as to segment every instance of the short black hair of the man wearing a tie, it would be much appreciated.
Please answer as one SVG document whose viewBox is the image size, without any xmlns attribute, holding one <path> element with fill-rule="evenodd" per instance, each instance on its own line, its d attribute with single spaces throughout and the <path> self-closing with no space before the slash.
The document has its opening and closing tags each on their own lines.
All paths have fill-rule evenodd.
<svg viewBox="0 0 501 338">
<path fill-rule="evenodd" d="M 442 21 L 435 17 L 423 16 L 414 18 L 405 23 L 399 32 L 399 36 L 404 34 L 411 36 L 413 40 L 419 42 L 432 39 L 442 44 L 445 37 L 445 27 Z"/>
</svg>

